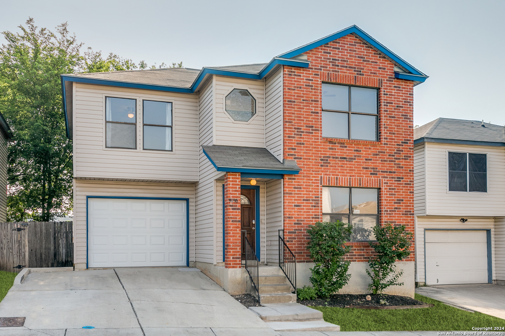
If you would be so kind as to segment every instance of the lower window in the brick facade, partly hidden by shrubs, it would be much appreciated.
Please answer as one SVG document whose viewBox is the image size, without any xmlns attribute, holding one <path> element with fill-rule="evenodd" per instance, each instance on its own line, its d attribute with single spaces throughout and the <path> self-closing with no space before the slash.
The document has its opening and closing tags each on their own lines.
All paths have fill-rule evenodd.
<svg viewBox="0 0 505 336">
<path fill-rule="evenodd" d="M 323 187 L 323 222 L 351 223 L 351 241 L 374 240 L 378 197 L 379 189 Z"/>
</svg>

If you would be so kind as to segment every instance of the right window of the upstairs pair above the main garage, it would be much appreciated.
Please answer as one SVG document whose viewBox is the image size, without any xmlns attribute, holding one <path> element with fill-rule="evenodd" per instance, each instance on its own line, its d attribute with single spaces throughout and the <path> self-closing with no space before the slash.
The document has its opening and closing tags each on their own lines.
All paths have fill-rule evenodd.
<svg viewBox="0 0 505 336">
<path fill-rule="evenodd" d="M 144 149 L 172 150 L 172 103 L 143 101 Z"/>
</svg>

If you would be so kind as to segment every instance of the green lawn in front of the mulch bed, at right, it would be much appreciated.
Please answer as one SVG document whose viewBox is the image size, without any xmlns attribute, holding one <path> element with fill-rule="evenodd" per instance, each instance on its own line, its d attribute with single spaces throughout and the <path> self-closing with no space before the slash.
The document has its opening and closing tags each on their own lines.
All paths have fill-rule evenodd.
<svg viewBox="0 0 505 336">
<path fill-rule="evenodd" d="M 416 294 L 416 300 L 433 303 L 432 308 L 356 309 L 312 307 L 323 312 L 325 321 L 340 325 L 341 331 L 472 330 L 472 327 L 505 326 L 505 320 L 472 313 Z"/>
</svg>

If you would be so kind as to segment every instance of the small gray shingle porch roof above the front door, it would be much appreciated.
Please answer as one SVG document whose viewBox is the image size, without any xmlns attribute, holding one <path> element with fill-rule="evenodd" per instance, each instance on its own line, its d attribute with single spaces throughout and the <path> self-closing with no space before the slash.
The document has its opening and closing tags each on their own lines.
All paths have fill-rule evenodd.
<svg viewBox="0 0 505 336">
<path fill-rule="evenodd" d="M 300 170 L 293 160 L 288 160 L 283 164 L 265 148 L 218 145 L 201 146 L 201 148 L 219 168 Z"/>
</svg>

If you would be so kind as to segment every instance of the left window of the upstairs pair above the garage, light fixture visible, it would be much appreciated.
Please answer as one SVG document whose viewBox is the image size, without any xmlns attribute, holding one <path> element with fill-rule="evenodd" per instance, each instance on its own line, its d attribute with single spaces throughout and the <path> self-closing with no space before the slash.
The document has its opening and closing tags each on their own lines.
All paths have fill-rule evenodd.
<svg viewBox="0 0 505 336">
<path fill-rule="evenodd" d="M 106 97 L 105 146 L 136 149 L 136 99 Z"/>
</svg>

